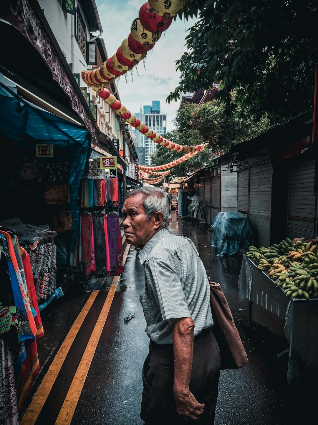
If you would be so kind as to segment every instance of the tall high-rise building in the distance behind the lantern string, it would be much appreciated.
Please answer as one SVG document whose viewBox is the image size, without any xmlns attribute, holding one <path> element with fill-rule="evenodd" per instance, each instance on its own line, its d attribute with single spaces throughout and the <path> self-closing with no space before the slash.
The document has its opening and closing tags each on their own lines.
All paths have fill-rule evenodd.
<svg viewBox="0 0 318 425">
<path fill-rule="evenodd" d="M 160 136 L 165 134 L 167 115 L 161 112 L 159 100 L 153 100 L 152 105 L 144 105 L 143 114 L 140 111 L 140 113 L 136 113 L 135 115 L 140 119 L 140 121 L 144 122 L 145 125 L 151 128 L 151 130 L 160 134 Z M 139 141 L 138 145 L 140 147 L 145 147 L 145 165 L 150 165 L 151 155 L 155 153 L 157 144 L 156 142 L 153 142 L 153 140 L 148 139 L 148 137 L 142 133 L 139 133 L 138 139 L 137 133 L 139 133 L 138 130 L 136 131 L 137 143 Z"/>
</svg>

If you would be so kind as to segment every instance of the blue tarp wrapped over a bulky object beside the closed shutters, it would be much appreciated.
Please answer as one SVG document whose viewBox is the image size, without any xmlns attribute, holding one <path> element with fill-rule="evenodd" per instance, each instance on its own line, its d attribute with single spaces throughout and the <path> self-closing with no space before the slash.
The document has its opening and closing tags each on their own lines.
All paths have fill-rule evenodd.
<svg viewBox="0 0 318 425">
<path fill-rule="evenodd" d="M 219 212 L 211 230 L 211 245 L 218 248 L 220 256 L 233 255 L 254 245 L 251 224 L 241 212 Z"/>
</svg>

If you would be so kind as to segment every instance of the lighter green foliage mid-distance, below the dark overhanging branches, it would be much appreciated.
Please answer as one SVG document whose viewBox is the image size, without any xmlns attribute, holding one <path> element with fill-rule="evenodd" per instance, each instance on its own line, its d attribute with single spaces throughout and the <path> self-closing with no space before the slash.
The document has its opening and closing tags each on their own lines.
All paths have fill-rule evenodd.
<svg viewBox="0 0 318 425">
<path fill-rule="evenodd" d="M 192 159 L 184 161 L 173 169 L 169 180 L 187 176 L 205 166 L 212 164 L 217 152 L 226 152 L 232 144 L 250 139 L 268 128 L 265 118 L 255 121 L 240 118 L 240 111 L 226 115 L 226 105 L 221 100 L 206 102 L 199 107 L 193 103 L 185 103 L 177 111 L 174 120 L 175 129 L 165 135 L 165 138 L 180 145 L 209 146 Z M 182 153 L 158 146 L 156 153 L 151 156 L 151 164 L 158 166 L 167 164 L 182 156 Z"/>
</svg>

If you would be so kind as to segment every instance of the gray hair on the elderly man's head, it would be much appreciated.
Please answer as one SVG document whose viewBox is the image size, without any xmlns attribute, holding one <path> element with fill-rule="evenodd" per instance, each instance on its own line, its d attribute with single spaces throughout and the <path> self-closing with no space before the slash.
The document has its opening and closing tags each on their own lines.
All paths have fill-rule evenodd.
<svg viewBox="0 0 318 425">
<path fill-rule="evenodd" d="M 162 228 L 166 229 L 169 217 L 169 203 L 167 193 L 159 187 L 138 187 L 137 189 L 128 192 L 125 199 L 139 194 L 144 198 L 143 207 L 148 221 L 155 212 L 161 211 L 163 214 Z"/>
</svg>

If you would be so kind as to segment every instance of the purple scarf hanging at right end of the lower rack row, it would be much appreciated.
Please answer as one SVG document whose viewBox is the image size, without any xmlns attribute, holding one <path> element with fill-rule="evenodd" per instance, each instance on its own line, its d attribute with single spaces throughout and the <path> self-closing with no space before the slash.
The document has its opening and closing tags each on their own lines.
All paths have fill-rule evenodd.
<svg viewBox="0 0 318 425">
<path fill-rule="evenodd" d="M 123 273 L 123 244 L 121 239 L 119 219 L 116 213 L 107 216 L 107 230 L 109 240 L 110 270 L 112 275 Z"/>
</svg>

